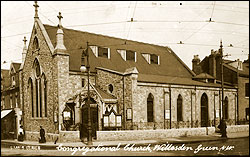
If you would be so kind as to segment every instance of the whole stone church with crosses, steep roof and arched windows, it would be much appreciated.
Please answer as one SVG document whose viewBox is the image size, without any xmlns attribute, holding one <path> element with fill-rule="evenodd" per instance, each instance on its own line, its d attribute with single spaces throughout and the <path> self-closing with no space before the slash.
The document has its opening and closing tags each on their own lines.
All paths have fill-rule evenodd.
<svg viewBox="0 0 250 157">
<path fill-rule="evenodd" d="M 102 130 L 218 126 L 221 85 L 209 74 L 196 76 L 169 47 L 67 29 L 60 13 L 58 26 L 46 25 L 34 6 L 20 69 L 27 140 L 38 139 L 40 126 L 47 141 L 78 141 L 86 133 L 88 81 L 80 67 L 87 42 L 93 136 Z M 235 123 L 236 92 L 225 85 L 228 125 Z"/>
</svg>

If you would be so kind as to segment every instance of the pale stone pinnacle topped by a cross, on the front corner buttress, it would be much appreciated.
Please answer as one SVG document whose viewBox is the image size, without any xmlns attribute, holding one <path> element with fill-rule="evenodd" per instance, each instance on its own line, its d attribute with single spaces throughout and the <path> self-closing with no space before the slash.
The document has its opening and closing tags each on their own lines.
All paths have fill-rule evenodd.
<svg viewBox="0 0 250 157">
<path fill-rule="evenodd" d="M 63 18 L 61 15 L 61 12 L 59 12 L 59 15 L 57 16 L 59 19 L 59 24 L 58 24 L 58 29 L 57 29 L 57 33 L 56 33 L 56 48 L 55 51 L 58 52 L 64 52 L 66 50 L 65 46 L 64 46 L 64 41 L 63 41 L 63 27 L 62 27 L 62 23 L 61 23 L 61 19 Z"/>
</svg>

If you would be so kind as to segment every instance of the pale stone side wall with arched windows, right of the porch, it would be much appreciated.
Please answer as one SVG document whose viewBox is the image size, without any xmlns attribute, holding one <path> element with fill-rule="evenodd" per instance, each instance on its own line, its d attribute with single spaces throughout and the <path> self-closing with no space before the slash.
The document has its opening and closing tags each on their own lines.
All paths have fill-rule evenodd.
<svg viewBox="0 0 250 157">
<path fill-rule="evenodd" d="M 133 103 L 133 122 L 130 123 L 130 129 L 163 129 L 170 128 L 170 121 L 165 120 L 164 124 L 164 105 L 165 109 L 170 109 L 170 93 L 171 93 L 171 128 L 190 128 L 201 126 L 201 96 L 206 94 L 208 97 L 208 126 L 218 126 L 219 116 L 216 117 L 216 112 L 220 111 L 220 88 L 212 87 L 196 87 L 143 83 L 137 85 L 136 92 L 133 92 L 133 97 L 136 101 Z M 147 123 L 147 97 L 149 93 L 154 96 L 154 123 Z M 193 94 L 191 94 L 193 93 Z M 177 98 L 182 96 L 182 114 L 183 121 L 177 122 Z M 225 89 L 224 97 L 229 100 L 229 120 L 228 125 L 235 124 L 235 89 Z M 192 95 L 192 97 L 191 97 Z M 192 109 L 192 113 L 191 113 Z M 222 110 L 221 110 L 222 111 Z"/>
</svg>

